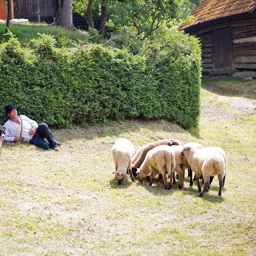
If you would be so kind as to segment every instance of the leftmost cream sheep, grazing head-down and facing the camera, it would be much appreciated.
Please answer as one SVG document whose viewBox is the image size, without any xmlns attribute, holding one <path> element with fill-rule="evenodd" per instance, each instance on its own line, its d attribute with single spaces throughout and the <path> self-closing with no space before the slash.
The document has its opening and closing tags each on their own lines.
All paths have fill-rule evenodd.
<svg viewBox="0 0 256 256">
<path fill-rule="evenodd" d="M 116 140 L 112 147 L 112 154 L 116 166 L 116 171 L 112 173 L 116 174 L 118 185 L 122 184 L 125 177 L 130 178 L 130 176 L 130 179 L 135 182 L 132 175 L 132 156 L 134 154 L 132 143 L 125 138 Z M 127 170 L 130 173 L 130 176 L 127 174 Z"/>
</svg>

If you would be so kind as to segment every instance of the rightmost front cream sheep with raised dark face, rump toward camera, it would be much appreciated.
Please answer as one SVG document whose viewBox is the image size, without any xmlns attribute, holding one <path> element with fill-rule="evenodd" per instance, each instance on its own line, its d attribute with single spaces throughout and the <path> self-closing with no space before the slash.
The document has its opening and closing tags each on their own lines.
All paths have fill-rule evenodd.
<svg viewBox="0 0 256 256">
<path fill-rule="evenodd" d="M 219 178 L 219 196 L 221 196 L 223 177 L 225 175 L 225 163 L 223 156 L 216 150 L 205 150 L 204 148 L 184 147 L 180 152 L 181 156 L 186 156 L 187 161 L 193 172 L 196 173 L 196 182 L 199 196 L 204 196 L 208 191 L 210 176 L 218 175 Z M 204 177 L 204 187 L 201 190 L 199 176 Z"/>
</svg>

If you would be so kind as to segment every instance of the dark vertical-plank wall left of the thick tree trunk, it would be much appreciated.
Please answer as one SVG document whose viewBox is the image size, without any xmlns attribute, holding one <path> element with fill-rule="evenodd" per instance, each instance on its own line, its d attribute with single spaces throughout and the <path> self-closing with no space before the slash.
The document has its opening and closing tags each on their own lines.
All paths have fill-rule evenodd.
<svg viewBox="0 0 256 256">
<path fill-rule="evenodd" d="M 41 22 L 53 22 L 59 3 L 58 0 L 38 0 L 40 4 Z M 14 16 L 16 19 L 28 19 L 37 22 L 37 0 L 14 0 Z"/>
</svg>

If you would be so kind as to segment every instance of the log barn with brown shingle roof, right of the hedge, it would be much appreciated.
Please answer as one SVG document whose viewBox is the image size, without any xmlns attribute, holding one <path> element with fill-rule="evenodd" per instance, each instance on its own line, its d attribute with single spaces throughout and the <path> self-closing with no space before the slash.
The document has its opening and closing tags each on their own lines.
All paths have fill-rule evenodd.
<svg viewBox="0 0 256 256">
<path fill-rule="evenodd" d="M 201 39 L 203 74 L 256 77 L 256 0 L 204 0 L 191 15 L 179 30 Z"/>
</svg>

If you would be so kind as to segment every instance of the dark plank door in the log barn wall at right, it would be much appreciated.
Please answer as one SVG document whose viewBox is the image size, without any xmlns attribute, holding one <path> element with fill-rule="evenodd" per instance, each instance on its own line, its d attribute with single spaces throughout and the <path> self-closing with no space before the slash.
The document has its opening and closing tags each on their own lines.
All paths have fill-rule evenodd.
<svg viewBox="0 0 256 256">
<path fill-rule="evenodd" d="M 214 72 L 232 70 L 231 28 L 212 31 L 212 69 Z"/>
</svg>

